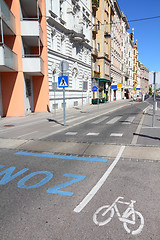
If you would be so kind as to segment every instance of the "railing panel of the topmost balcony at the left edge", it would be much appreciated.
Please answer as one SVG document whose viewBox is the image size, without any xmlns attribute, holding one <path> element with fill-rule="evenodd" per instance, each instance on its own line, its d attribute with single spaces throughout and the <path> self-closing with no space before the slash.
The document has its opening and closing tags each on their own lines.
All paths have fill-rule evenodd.
<svg viewBox="0 0 160 240">
<path fill-rule="evenodd" d="M 0 18 L 2 18 L 4 23 L 15 34 L 16 33 L 15 17 L 12 14 L 12 12 L 9 10 L 9 8 L 8 8 L 7 4 L 4 2 L 4 0 L 0 0 Z"/>
</svg>

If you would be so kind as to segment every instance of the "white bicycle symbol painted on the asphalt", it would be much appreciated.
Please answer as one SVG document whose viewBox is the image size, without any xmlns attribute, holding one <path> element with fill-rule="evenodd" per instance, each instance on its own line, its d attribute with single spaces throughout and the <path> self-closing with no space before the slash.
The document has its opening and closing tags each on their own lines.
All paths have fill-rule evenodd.
<svg viewBox="0 0 160 240">
<path fill-rule="evenodd" d="M 97 211 L 93 215 L 94 223 L 98 226 L 104 226 L 105 224 L 109 223 L 112 220 L 114 213 L 116 212 L 119 220 L 121 222 L 123 222 L 124 229 L 128 233 L 131 233 L 133 235 L 139 234 L 142 231 L 143 226 L 144 226 L 144 218 L 140 212 L 134 210 L 134 203 L 136 203 L 136 201 L 131 200 L 131 202 L 123 202 L 120 199 L 124 199 L 124 198 L 118 197 L 112 205 L 105 205 L 105 206 L 98 208 Z M 118 210 L 117 203 L 129 205 L 128 208 L 123 212 L 122 215 L 120 214 L 120 212 Z M 105 215 L 107 215 L 107 213 L 110 214 L 108 218 L 105 218 L 104 221 L 98 221 L 99 217 L 105 217 Z M 130 225 L 130 224 L 135 225 L 136 217 L 139 218 L 140 225 L 136 230 L 131 231 L 129 229 L 128 225 Z"/>
</svg>

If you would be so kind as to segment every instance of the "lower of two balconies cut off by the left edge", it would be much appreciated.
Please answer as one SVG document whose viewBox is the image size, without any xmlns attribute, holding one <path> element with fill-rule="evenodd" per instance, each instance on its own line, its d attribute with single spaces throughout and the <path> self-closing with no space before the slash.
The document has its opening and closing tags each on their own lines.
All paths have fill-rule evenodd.
<svg viewBox="0 0 160 240">
<path fill-rule="evenodd" d="M 0 45 L 0 72 L 17 72 L 18 59 L 15 54 L 6 45 Z"/>
</svg>

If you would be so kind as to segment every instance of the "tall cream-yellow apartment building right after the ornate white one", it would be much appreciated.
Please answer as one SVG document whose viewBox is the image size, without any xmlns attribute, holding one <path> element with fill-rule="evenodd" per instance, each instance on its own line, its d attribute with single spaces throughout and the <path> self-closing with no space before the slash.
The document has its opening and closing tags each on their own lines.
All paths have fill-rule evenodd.
<svg viewBox="0 0 160 240">
<path fill-rule="evenodd" d="M 97 11 L 97 27 L 96 35 L 98 57 L 96 60 L 99 72 L 98 89 L 99 98 L 110 99 L 111 85 L 111 15 L 112 3 L 110 0 L 99 1 Z"/>
</svg>

